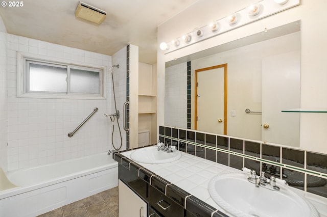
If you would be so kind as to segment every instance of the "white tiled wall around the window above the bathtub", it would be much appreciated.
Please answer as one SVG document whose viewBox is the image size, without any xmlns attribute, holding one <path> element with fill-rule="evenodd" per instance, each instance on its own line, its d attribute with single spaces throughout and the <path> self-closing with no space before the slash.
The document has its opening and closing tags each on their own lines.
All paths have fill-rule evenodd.
<svg viewBox="0 0 327 217">
<path fill-rule="evenodd" d="M 17 51 L 81 64 L 111 66 L 111 57 L 44 41 L 7 35 L 8 170 L 43 165 L 107 151 L 111 148 L 111 94 L 106 100 L 17 98 Z M 111 76 L 107 76 L 111 87 Z M 108 88 L 107 88 L 108 90 Z M 1 95 L 1 102 L 5 99 Z M 2 104 L 2 103 L 1 103 Z M 99 111 L 72 138 L 72 132 L 95 107 Z M 2 116 L 4 114 L 1 111 Z M 1 116 L 1 117 L 2 117 Z M 111 139 L 110 139 L 111 140 Z"/>
</svg>

